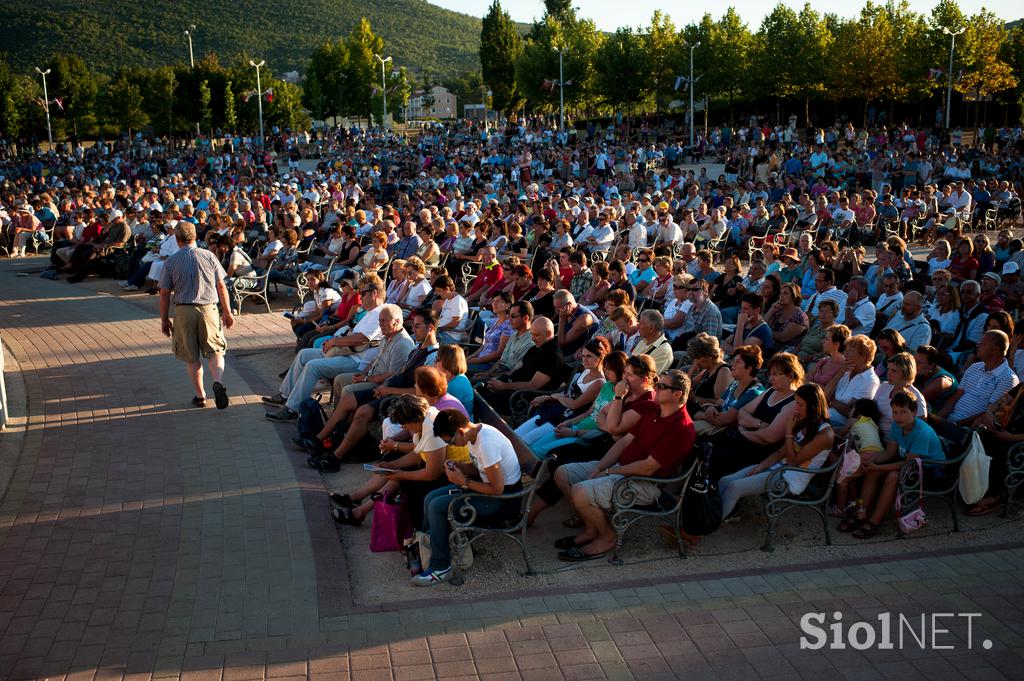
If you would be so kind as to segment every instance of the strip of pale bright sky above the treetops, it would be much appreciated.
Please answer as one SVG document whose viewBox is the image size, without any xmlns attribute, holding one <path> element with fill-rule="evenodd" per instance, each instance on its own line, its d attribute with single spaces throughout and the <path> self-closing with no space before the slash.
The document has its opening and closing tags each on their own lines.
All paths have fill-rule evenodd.
<svg viewBox="0 0 1024 681">
<path fill-rule="evenodd" d="M 487 7 L 490 6 L 490 0 L 429 0 L 429 2 L 466 14 L 472 14 L 473 16 L 483 16 L 487 11 Z M 921 12 L 926 16 L 931 13 L 932 8 L 937 4 L 936 0 L 909 0 L 909 2 L 910 7 L 914 11 Z M 630 8 L 630 12 L 622 11 L 624 4 Z M 624 3 L 623 0 L 578 0 L 575 6 L 580 8 L 580 14 L 593 19 L 598 29 L 602 31 L 614 31 L 623 26 L 647 26 L 655 9 L 662 9 L 667 12 L 672 16 L 677 27 L 683 27 L 691 22 L 695 23 L 699 20 L 706 11 L 710 11 L 715 18 L 718 18 L 724 13 L 726 7 L 732 5 L 739 12 L 743 20 L 746 22 L 751 31 L 757 31 L 761 25 L 761 19 L 771 11 L 776 1 L 727 0 L 720 5 L 716 5 L 715 8 L 711 8 L 702 3 L 685 3 L 687 6 L 681 7 L 680 5 L 683 4 L 671 3 L 675 7 L 670 9 L 667 7 L 670 3 L 664 0 L 629 0 L 628 3 Z M 786 0 L 785 4 L 799 10 L 804 6 L 804 0 Z M 968 15 L 977 12 L 984 6 L 989 11 L 994 12 L 996 16 L 1001 16 L 1008 22 L 1024 16 L 1024 7 L 1022 7 L 1020 0 L 985 0 L 985 2 L 981 0 L 961 0 L 958 4 L 961 10 Z M 849 0 L 813 0 L 811 2 L 811 6 L 817 11 L 834 12 L 840 16 L 854 15 L 863 5 L 864 2 L 861 0 L 857 0 L 856 2 L 849 2 Z M 544 14 L 543 0 L 502 0 L 502 7 L 517 22 L 532 22 Z"/>
</svg>

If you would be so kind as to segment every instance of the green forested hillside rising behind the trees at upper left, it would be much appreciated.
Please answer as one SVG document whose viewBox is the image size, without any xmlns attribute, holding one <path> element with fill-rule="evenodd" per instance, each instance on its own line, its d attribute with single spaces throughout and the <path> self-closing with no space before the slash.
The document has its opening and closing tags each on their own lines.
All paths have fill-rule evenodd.
<svg viewBox="0 0 1024 681">
<path fill-rule="evenodd" d="M 396 66 L 455 76 L 479 70 L 480 19 L 424 0 L 4 0 L 0 50 L 31 69 L 52 52 L 82 56 L 95 71 L 188 60 L 183 31 L 196 25 L 196 58 L 240 52 L 276 74 L 304 71 L 312 49 L 347 35 L 366 16 Z"/>
</svg>

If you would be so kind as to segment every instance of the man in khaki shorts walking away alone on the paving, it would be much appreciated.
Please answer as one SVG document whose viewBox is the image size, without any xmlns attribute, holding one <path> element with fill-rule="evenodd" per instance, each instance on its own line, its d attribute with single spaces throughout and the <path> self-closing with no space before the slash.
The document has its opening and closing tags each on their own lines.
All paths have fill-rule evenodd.
<svg viewBox="0 0 1024 681">
<path fill-rule="evenodd" d="M 178 222 L 174 238 L 179 250 L 167 259 L 160 276 L 161 330 L 165 336 L 173 338 L 174 356 L 188 366 L 188 378 L 196 388 L 193 405 L 206 407 L 202 358 L 207 357 L 217 409 L 227 409 L 227 390 L 220 379 L 224 374 L 224 351 L 227 349 L 224 329 L 234 325 L 234 317 L 224 286 L 224 268 L 215 255 L 196 248 L 196 225 L 191 222 Z M 170 318 L 172 298 L 173 324 Z"/>
</svg>

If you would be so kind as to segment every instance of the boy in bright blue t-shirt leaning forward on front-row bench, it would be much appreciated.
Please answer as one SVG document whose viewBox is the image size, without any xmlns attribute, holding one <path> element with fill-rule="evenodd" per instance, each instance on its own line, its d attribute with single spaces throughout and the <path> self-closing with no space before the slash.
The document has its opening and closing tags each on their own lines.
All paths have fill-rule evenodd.
<svg viewBox="0 0 1024 681">
<path fill-rule="evenodd" d="M 918 398 L 909 392 L 898 392 L 892 398 L 893 425 L 889 431 L 889 444 L 880 461 L 867 463 L 864 486 L 861 490 L 859 520 L 853 536 L 867 539 L 879 533 L 886 513 L 893 507 L 899 492 L 899 473 L 907 459 L 941 461 L 946 455 L 935 430 L 918 418 Z M 872 507 L 873 504 L 873 507 Z M 867 510 L 873 508 L 870 515 Z"/>
</svg>

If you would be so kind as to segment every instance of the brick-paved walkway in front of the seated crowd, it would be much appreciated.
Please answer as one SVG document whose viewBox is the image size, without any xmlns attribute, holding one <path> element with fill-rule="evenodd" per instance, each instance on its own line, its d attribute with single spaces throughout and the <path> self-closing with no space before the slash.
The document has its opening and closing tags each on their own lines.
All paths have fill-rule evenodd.
<svg viewBox="0 0 1024 681">
<path fill-rule="evenodd" d="M 0 263 L 28 396 L 0 502 L 0 679 L 1021 678 L 1020 546 L 355 609 L 319 478 L 256 418 L 246 359 L 231 409 L 189 409 L 152 305 L 25 266 Z M 242 317 L 232 352 L 280 343 L 275 322 Z M 981 615 L 971 648 L 964 620 L 939 623 L 950 650 L 799 648 L 807 612 L 883 610 Z"/>
</svg>

